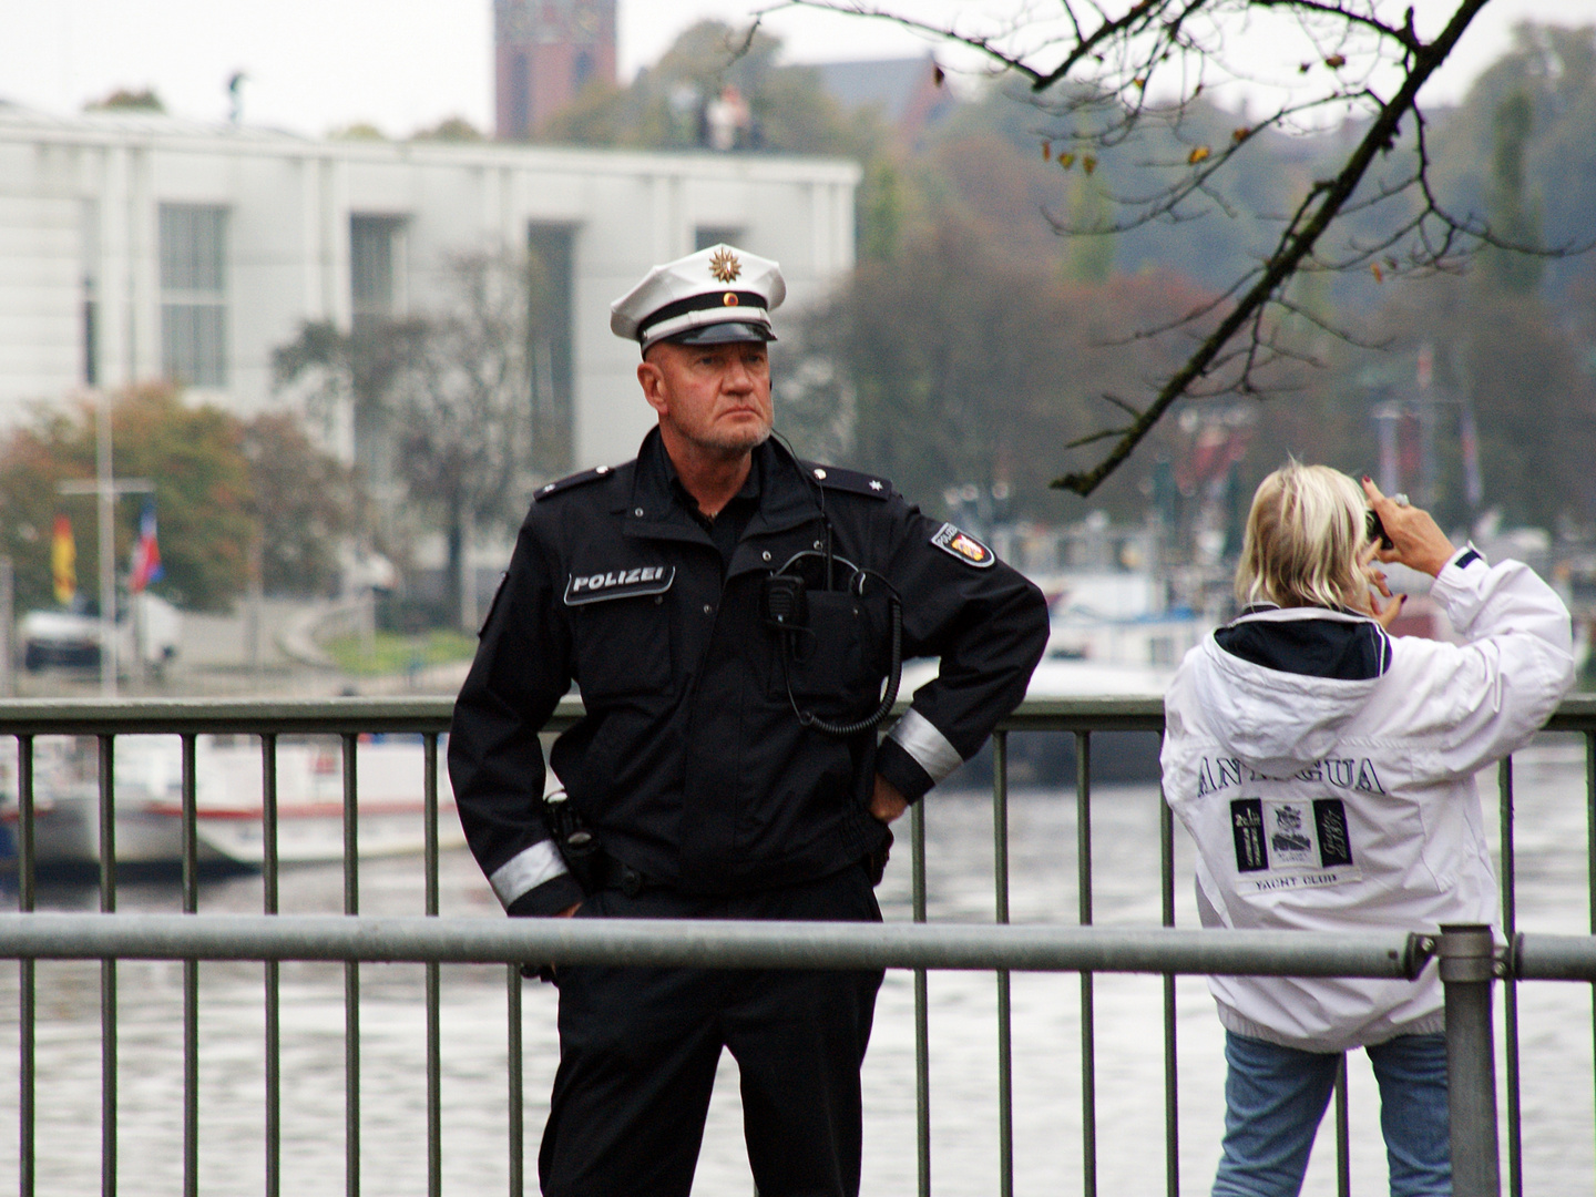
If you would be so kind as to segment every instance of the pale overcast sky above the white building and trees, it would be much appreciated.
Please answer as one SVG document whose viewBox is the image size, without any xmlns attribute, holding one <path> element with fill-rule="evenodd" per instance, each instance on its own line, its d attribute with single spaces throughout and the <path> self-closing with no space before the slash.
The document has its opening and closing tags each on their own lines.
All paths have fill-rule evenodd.
<svg viewBox="0 0 1596 1197">
<path fill-rule="evenodd" d="M 745 21 L 763 3 L 619 0 L 622 75 L 694 21 Z M 1416 6 L 1425 32 L 1456 2 Z M 1596 0 L 1491 0 L 1427 99 L 1460 94 L 1524 18 L 1596 24 Z M 929 48 L 878 21 L 793 11 L 769 27 L 796 62 Z M 450 115 L 492 124 L 492 0 L 0 0 L 0 99 L 46 112 L 77 112 L 115 88 L 155 88 L 176 115 L 222 120 L 227 80 L 243 70 L 251 123 L 321 134 L 370 121 L 394 136 Z"/>
</svg>

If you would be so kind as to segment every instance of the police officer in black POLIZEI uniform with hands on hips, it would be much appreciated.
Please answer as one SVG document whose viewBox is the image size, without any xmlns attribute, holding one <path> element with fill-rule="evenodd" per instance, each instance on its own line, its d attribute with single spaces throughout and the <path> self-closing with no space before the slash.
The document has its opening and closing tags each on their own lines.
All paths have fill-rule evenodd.
<svg viewBox="0 0 1596 1197">
<path fill-rule="evenodd" d="M 887 824 L 1025 696 L 1042 595 L 886 479 L 771 439 L 776 262 L 656 267 L 611 308 L 659 425 L 536 495 L 448 769 L 511 915 L 879 921 Z M 905 656 L 938 677 L 878 744 Z M 538 741 L 571 683 L 586 715 Z M 551 808 L 554 809 L 554 808 Z M 552 827 L 551 827 L 552 822 Z M 686 1197 L 721 1049 L 761 1194 L 857 1194 L 879 972 L 562 967 L 547 1197 Z"/>
</svg>

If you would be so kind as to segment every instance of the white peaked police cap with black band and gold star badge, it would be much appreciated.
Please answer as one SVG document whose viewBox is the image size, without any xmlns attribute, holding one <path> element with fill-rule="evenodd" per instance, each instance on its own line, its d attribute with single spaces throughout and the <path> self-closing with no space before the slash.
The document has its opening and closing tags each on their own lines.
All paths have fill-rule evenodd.
<svg viewBox="0 0 1596 1197">
<path fill-rule="evenodd" d="M 772 342 L 771 311 L 784 298 L 780 265 L 736 246 L 710 246 L 650 270 L 610 305 L 610 330 L 645 350 L 699 329 L 704 335 L 694 342 Z"/>
</svg>

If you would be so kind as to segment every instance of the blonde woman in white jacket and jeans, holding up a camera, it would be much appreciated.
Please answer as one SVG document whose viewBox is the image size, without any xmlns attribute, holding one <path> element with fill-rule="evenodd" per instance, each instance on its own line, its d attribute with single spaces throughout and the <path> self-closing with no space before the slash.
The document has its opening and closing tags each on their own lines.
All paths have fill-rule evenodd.
<svg viewBox="0 0 1596 1197">
<path fill-rule="evenodd" d="M 1401 600 L 1376 562 L 1432 575 L 1464 643 L 1390 637 Z M 1569 688 L 1558 595 L 1518 562 L 1456 549 L 1369 479 L 1360 490 L 1298 463 L 1253 496 L 1235 591 L 1243 613 L 1186 656 L 1165 702 L 1163 785 L 1197 841 L 1203 926 L 1495 924 L 1475 771 L 1523 747 Z M 1379 1080 L 1393 1197 L 1451 1192 L 1433 964 L 1417 983 L 1208 986 L 1229 1066 L 1216 1197 L 1299 1192 L 1336 1063 L 1355 1047 Z"/>
</svg>

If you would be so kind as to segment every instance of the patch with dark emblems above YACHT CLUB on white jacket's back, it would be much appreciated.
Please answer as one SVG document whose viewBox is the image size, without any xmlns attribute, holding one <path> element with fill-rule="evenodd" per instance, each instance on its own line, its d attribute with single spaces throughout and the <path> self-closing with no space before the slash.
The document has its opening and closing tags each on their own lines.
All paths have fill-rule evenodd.
<svg viewBox="0 0 1596 1197">
<path fill-rule="evenodd" d="M 1341 798 L 1237 798 L 1231 803 L 1235 871 L 1258 892 L 1336 886 L 1353 868 L 1347 808 Z"/>
</svg>

